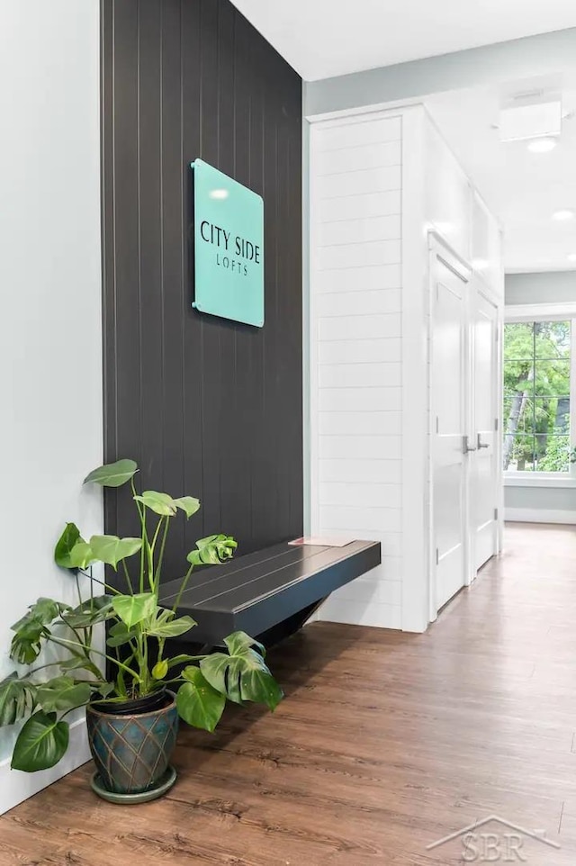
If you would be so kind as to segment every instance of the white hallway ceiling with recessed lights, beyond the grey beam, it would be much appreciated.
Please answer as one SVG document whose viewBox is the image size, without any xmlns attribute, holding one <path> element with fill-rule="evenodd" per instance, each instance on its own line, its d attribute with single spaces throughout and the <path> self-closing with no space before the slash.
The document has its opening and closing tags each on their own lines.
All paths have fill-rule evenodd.
<svg viewBox="0 0 576 866">
<path fill-rule="evenodd" d="M 560 143 L 535 154 L 526 142 L 501 143 L 500 104 L 535 88 L 560 91 L 564 119 Z M 576 212 L 576 59 L 571 73 L 511 82 L 500 87 L 453 91 L 426 99 L 428 111 L 464 170 L 500 220 L 508 272 L 576 268 L 576 220 L 558 222 L 554 211 Z"/>
</svg>

